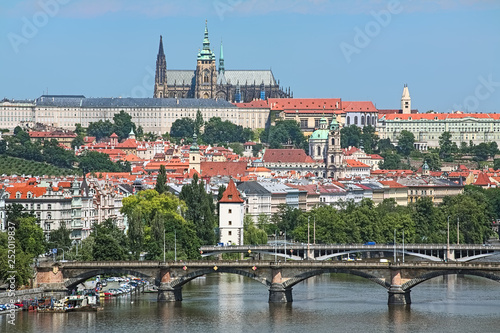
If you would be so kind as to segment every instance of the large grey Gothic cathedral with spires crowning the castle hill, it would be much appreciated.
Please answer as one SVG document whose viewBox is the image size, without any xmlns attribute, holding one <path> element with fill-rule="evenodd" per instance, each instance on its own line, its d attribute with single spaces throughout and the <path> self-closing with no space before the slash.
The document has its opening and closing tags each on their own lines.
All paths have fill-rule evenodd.
<svg viewBox="0 0 500 333">
<path fill-rule="evenodd" d="M 275 79 L 270 69 L 226 70 L 222 42 L 217 68 L 205 22 L 203 48 L 198 52 L 195 70 L 167 69 L 163 38 L 160 36 L 153 97 L 221 99 L 247 103 L 256 99 L 293 97 L 293 93 L 290 88 L 280 87 L 279 80 Z"/>
</svg>

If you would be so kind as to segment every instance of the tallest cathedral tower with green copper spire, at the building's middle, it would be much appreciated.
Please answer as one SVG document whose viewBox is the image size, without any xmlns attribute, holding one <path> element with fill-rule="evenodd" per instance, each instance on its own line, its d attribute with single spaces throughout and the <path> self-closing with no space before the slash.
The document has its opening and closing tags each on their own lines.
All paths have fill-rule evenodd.
<svg viewBox="0 0 500 333">
<path fill-rule="evenodd" d="M 217 71 L 215 66 L 215 54 L 210 50 L 208 27 L 205 21 L 203 49 L 198 53 L 198 60 L 196 63 L 195 98 L 215 98 L 216 84 Z"/>
</svg>

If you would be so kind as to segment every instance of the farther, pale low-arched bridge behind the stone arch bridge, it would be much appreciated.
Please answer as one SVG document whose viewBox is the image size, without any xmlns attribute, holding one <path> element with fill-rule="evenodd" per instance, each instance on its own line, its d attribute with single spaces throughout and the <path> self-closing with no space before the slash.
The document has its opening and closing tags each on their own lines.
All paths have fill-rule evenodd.
<svg viewBox="0 0 500 333">
<path fill-rule="evenodd" d="M 305 244 L 276 243 L 266 245 L 242 246 L 202 246 L 202 257 L 217 256 L 223 253 L 245 253 L 252 255 L 268 255 L 293 260 L 328 260 L 351 257 L 358 253 L 394 253 L 399 258 L 405 256 L 419 257 L 426 261 L 458 261 L 466 262 L 500 254 L 500 245 L 490 244 Z M 365 254 L 369 256 L 369 254 Z"/>
</svg>

